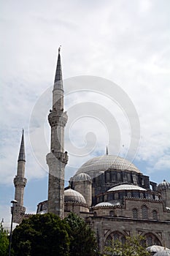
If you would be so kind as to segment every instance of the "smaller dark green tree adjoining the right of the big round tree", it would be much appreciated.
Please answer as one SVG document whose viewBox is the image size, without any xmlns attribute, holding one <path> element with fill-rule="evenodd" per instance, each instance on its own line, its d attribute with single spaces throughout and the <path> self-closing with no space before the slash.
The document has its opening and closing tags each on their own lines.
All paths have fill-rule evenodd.
<svg viewBox="0 0 170 256">
<path fill-rule="evenodd" d="M 69 224 L 70 256 L 93 256 L 97 253 L 96 235 L 84 219 L 69 214 L 65 221 Z"/>
</svg>

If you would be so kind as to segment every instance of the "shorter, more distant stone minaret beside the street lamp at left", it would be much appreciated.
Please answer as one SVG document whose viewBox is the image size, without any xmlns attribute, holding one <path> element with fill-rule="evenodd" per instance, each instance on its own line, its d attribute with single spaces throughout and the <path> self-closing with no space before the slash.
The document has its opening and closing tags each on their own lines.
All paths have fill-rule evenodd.
<svg viewBox="0 0 170 256">
<path fill-rule="evenodd" d="M 17 176 L 14 178 L 14 185 L 15 185 L 15 200 L 18 203 L 14 204 L 14 211 L 13 221 L 16 223 L 20 223 L 24 217 L 26 208 L 23 207 L 23 194 L 24 188 L 26 187 L 27 179 L 25 176 L 25 163 L 26 163 L 26 156 L 25 156 L 25 148 L 24 148 L 24 137 L 22 135 L 21 143 L 20 143 L 20 152 L 18 156 L 18 170 Z"/>
</svg>

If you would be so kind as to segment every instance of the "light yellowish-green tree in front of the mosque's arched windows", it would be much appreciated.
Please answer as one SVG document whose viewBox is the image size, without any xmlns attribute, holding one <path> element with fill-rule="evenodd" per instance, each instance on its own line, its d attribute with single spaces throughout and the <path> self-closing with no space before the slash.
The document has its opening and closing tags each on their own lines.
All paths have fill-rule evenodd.
<svg viewBox="0 0 170 256">
<path fill-rule="evenodd" d="M 110 246 L 105 246 L 104 255 L 149 256 L 150 252 L 146 250 L 143 236 L 127 236 L 124 244 L 116 240 Z"/>
</svg>

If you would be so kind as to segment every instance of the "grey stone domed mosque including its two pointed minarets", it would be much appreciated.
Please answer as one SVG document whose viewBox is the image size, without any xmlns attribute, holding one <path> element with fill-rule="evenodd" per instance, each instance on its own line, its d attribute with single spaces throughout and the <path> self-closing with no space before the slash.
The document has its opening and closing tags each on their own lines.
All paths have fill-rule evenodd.
<svg viewBox="0 0 170 256">
<path fill-rule="evenodd" d="M 108 154 L 85 162 L 70 178 L 64 188 L 65 166 L 68 162 L 64 151 L 64 128 L 67 122 L 63 111 L 63 79 L 61 54 L 53 86 L 53 108 L 48 115 L 51 127 L 48 199 L 38 203 L 36 214 L 47 212 L 62 219 L 74 212 L 84 218 L 96 232 L 99 249 L 110 240 L 125 241 L 125 236 L 142 235 L 147 246 L 170 247 L 170 183 L 150 181 L 127 159 Z M 29 217 L 23 206 L 25 178 L 25 148 L 22 135 L 18 157 L 18 171 L 14 178 L 14 222 Z"/>
</svg>

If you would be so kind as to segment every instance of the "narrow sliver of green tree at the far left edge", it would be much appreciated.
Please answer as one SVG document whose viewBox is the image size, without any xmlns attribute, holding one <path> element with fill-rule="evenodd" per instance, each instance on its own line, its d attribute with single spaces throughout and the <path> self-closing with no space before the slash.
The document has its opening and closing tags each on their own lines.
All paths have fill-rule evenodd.
<svg viewBox="0 0 170 256">
<path fill-rule="evenodd" d="M 9 239 L 8 239 L 9 233 L 7 233 L 6 230 L 2 227 L 2 224 L 0 226 L 0 255 L 6 256 L 8 254 L 8 248 L 9 248 Z"/>
</svg>

